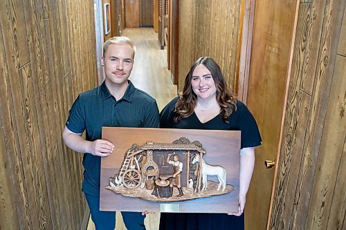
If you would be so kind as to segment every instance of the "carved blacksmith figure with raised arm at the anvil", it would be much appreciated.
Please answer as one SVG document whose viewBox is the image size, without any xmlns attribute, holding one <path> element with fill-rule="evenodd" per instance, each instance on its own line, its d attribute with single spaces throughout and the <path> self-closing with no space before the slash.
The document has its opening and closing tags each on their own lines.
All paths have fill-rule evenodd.
<svg viewBox="0 0 346 230">
<path fill-rule="evenodd" d="M 173 160 L 170 160 L 171 155 L 173 155 Z M 179 191 L 179 195 L 176 196 L 181 197 L 184 195 L 183 190 L 181 189 L 181 172 L 183 171 L 183 163 L 179 161 L 179 156 L 174 153 L 168 153 L 167 163 L 173 165 L 174 171 L 170 180 L 171 194 L 173 195 L 173 186 L 176 186 Z"/>
</svg>

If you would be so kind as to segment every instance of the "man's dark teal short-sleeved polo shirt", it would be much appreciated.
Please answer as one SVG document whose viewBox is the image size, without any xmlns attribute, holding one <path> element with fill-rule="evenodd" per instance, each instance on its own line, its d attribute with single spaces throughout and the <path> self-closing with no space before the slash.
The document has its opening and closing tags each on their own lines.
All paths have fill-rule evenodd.
<svg viewBox="0 0 346 230">
<path fill-rule="evenodd" d="M 101 139 L 102 126 L 158 128 L 156 100 L 129 81 L 122 99 L 116 100 L 102 83 L 78 96 L 73 103 L 66 127 L 73 133 L 86 131 L 86 140 Z M 91 195 L 100 192 L 101 157 L 85 153 L 83 157 L 83 191 Z"/>
</svg>

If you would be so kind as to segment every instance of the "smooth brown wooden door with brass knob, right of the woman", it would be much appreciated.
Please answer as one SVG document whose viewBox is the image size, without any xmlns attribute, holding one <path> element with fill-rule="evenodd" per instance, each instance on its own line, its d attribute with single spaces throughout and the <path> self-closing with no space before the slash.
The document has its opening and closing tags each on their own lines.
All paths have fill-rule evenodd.
<svg viewBox="0 0 346 230">
<path fill-rule="evenodd" d="M 255 169 L 246 196 L 246 229 L 266 229 L 286 97 L 296 0 L 255 2 L 247 106 L 262 135 L 255 151 Z"/>
</svg>

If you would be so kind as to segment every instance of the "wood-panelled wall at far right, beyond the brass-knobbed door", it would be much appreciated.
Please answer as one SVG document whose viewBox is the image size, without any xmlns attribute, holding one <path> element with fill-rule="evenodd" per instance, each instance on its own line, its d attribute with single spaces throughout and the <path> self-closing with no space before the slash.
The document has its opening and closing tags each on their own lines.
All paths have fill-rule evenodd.
<svg viewBox="0 0 346 230">
<path fill-rule="evenodd" d="M 344 0 L 300 1 L 269 229 L 345 229 Z"/>
</svg>

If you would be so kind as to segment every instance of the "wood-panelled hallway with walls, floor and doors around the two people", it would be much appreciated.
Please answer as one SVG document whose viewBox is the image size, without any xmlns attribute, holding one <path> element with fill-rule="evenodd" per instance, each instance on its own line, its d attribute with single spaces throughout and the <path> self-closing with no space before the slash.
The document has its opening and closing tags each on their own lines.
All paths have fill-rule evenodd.
<svg viewBox="0 0 346 230">
<path fill-rule="evenodd" d="M 131 81 L 160 110 L 195 59 L 209 56 L 253 113 L 263 142 L 246 230 L 345 229 L 346 1 L 161 1 L 170 4 L 154 8 L 159 33 L 124 29 L 126 2 L 147 12 L 138 14 L 147 25 L 153 11 L 144 0 L 3 1 L 0 229 L 86 229 L 84 154 L 66 146 L 62 131 L 78 95 L 99 84 L 102 37 L 120 31 L 137 46 Z M 177 86 L 158 41 L 165 25 L 175 35 Z M 157 229 L 158 216 L 146 218 L 147 229 Z"/>
</svg>

